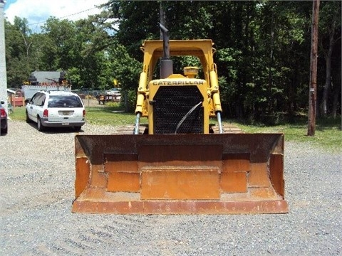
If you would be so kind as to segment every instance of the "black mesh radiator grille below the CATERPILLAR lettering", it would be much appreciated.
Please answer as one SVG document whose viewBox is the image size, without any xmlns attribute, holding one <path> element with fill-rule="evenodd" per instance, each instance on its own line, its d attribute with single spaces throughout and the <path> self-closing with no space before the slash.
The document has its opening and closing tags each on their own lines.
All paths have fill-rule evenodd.
<svg viewBox="0 0 342 256">
<path fill-rule="evenodd" d="M 203 102 L 203 96 L 196 86 L 161 86 L 152 100 L 154 134 L 175 133 L 177 124 L 199 102 Z M 182 122 L 177 133 L 202 134 L 203 112 L 201 104 Z"/>
</svg>

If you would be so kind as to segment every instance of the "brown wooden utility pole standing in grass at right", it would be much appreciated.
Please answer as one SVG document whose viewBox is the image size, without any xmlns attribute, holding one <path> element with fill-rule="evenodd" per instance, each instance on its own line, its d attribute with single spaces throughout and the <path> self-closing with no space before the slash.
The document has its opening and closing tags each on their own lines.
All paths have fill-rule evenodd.
<svg viewBox="0 0 342 256">
<path fill-rule="evenodd" d="M 317 104 L 317 57 L 318 57 L 318 16 L 319 0 L 312 4 L 311 24 L 311 56 L 310 56 L 310 85 L 309 85 L 309 123 L 308 136 L 315 136 L 316 131 L 316 104 Z"/>
</svg>

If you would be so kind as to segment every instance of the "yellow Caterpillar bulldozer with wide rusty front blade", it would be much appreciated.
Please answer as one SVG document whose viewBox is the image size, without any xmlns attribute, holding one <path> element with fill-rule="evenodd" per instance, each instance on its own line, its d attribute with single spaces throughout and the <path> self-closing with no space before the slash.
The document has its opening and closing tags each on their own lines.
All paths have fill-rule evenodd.
<svg viewBox="0 0 342 256">
<path fill-rule="evenodd" d="M 287 213 L 284 134 L 247 134 L 222 124 L 214 43 L 170 40 L 160 28 L 163 40 L 141 47 L 135 124 L 122 134 L 75 137 L 72 211 Z M 187 55 L 202 67 L 174 73 L 172 58 Z"/>
</svg>

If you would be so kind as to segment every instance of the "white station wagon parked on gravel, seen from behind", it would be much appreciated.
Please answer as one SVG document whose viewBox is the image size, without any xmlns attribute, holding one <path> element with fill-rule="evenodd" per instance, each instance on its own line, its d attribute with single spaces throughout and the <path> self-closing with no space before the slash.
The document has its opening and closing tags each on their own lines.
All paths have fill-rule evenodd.
<svg viewBox="0 0 342 256">
<path fill-rule="evenodd" d="M 73 127 L 81 130 L 86 110 L 73 92 L 41 91 L 26 100 L 26 122 L 36 122 L 38 131 L 45 127 Z"/>
</svg>

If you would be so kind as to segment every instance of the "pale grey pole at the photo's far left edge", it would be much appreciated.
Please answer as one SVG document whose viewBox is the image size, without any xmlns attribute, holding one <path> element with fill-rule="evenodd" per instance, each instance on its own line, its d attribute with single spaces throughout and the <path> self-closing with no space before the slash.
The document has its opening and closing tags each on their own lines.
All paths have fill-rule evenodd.
<svg viewBox="0 0 342 256">
<path fill-rule="evenodd" d="M 6 74 L 6 50 L 5 50 L 5 19 L 4 6 L 6 1 L 0 0 L 0 100 L 4 101 L 4 107 L 8 113 L 7 102 L 7 74 Z"/>
</svg>

